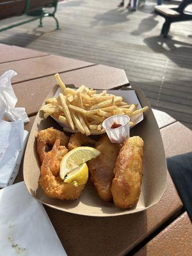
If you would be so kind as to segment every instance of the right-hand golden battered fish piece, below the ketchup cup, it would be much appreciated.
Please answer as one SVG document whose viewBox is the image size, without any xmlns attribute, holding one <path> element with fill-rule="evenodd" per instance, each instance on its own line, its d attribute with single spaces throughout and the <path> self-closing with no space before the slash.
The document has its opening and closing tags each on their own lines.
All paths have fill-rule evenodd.
<svg viewBox="0 0 192 256">
<path fill-rule="evenodd" d="M 111 192 L 116 206 L 125 209 L 135 205 L 140 197 L 142 179 L 143 140 L 134 136 L 124 142 L 116 160 Z"/>
</svg>

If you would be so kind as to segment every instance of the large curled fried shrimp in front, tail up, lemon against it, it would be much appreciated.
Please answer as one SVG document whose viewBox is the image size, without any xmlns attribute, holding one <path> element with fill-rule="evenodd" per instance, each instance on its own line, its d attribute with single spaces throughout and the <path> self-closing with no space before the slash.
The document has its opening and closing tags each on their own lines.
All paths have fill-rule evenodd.
<svg viewBox="0 0 192 256">
<path fill-rule="evenodd" d="M 54 166 L 54 158 L 60 147 L 60 139 L 56 139 L 52 150 L 47 152 L 41 167 L 41 176 L 39 184 L 44 189 L 45 195 L 51 198 L 61 200 L 74 200 L 79 198 L 84 189 L 84 185 L 73 183 L 65 183 L 60 177 L 52 175 L 52 166 Z"/>
</svg>

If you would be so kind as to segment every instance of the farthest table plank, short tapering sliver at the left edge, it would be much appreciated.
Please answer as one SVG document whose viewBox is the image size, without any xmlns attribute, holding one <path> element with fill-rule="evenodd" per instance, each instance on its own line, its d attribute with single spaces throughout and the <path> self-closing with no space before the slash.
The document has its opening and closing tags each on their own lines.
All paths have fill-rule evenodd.
<svg viewBox="0 0 192 256">
<path fill-rule="evenodd" d="M 4 47 L 2 49 L 0 47 L 0 63 L 36 58 L 46 55 L 49 54 L 46 52 L 34 51 L 18 46 L 10 46 L 8 49 L 7 47 L 5 47 L 5 49 Z"/>
</svg>

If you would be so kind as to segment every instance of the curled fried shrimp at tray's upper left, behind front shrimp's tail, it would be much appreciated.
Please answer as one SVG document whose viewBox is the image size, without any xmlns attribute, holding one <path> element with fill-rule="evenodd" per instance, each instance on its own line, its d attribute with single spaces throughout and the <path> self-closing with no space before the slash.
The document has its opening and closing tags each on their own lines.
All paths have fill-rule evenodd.
<svg viewBox="0 0 192 256">
<path fill-rule="evenodd" d="M 65 156 L 68 151 L 67 148 L 65 148 L 68 143 L 68 137 L 65 135 L 65 133 L 58 131 L 54 128 L 48 128 L 38 132 L 36 136 L 37 152 L 40 157 L 41 163 L 43 163 L 46 152 L 48 152 L 52 148 L 52 145 L 54 145 L 56 139 L 60 139 L 61 143 L 61 146 L 59 148 L 60 154 L 57 154 L 58 158 L 60 159 Z"/>
</svg>

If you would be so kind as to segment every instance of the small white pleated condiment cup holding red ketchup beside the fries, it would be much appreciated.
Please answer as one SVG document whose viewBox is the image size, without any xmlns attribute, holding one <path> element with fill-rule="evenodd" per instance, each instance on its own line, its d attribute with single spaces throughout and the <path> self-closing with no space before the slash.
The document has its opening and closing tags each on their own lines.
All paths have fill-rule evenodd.
<svg viewBox="0 0 192 256">
<path fill-rule="evenodd" d="M 115 115 L 110 116 L 102 123 L 102 127 L 106 130 L 109 140 L 112 143 L 123 143 L 129 138 L 129 116 Z M 113 124 L 120 124 L 120 127 L 111 128 Z"/>
</svg>

